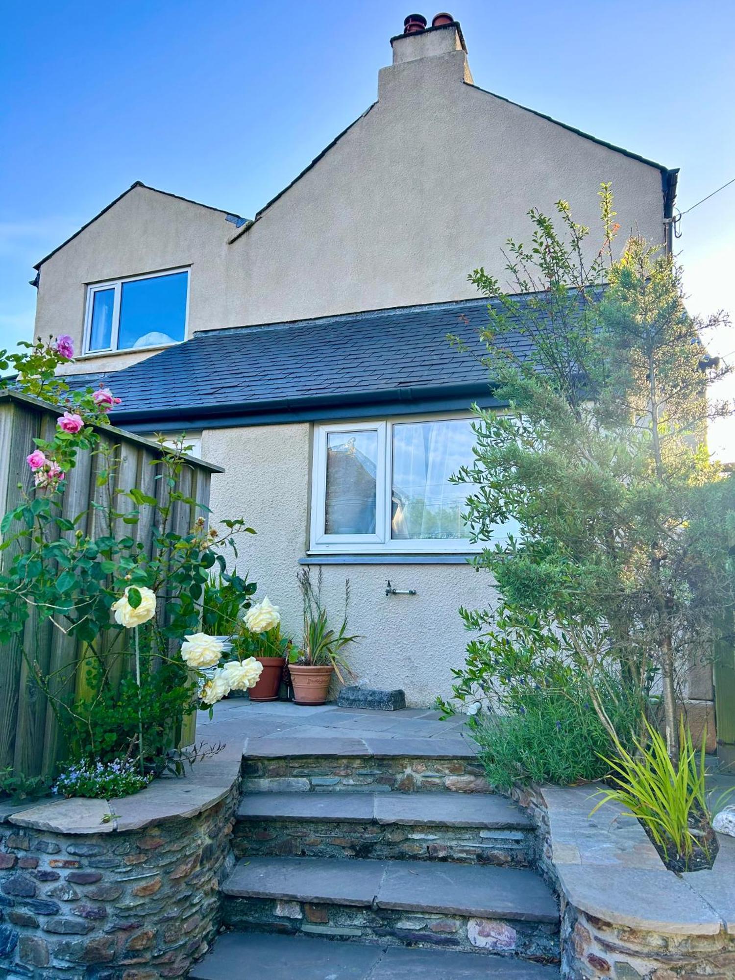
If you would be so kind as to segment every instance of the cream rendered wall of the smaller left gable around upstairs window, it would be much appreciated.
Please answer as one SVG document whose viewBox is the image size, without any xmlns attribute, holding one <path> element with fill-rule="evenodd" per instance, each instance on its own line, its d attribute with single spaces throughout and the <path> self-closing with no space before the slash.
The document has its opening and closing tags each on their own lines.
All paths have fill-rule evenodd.
<svg viewBox="0 0 735 980">
<path fill-rule="evenodd" d="M 143 272 L 190 268 L 189 335 L 225 318 L 227 239 L 235 227 L 224 213 L 149 187 L 133 187 L 117 204 L 44 262 L 35 336 L 68 333 L 82 350 L 86 286 Z M 153 350 L 77 360 L 74 373 L 120 370 Z"/>
</svg>

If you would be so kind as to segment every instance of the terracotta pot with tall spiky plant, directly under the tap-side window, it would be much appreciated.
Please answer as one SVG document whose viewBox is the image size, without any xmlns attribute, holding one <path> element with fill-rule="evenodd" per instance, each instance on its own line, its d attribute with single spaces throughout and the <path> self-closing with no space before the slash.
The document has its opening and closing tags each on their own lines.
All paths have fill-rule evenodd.
<svg viewBox="0 0 735 980">
<path fill-rule="evenodd" d="M 345 609 L 339 631 L 329 626 L 328 614 L 321 604 L 321 568 L 317 587 L 312 583 L 309 568 L 299 572 L 299 587 L 304 599 L 304 636 L 300 650 L 288 655 L 288 669 L 297 705 L 323 705 L 329 696 L 333 677 L 341 684 L 352 671 L 342 651 L 358 639 L 347 634 L 347 608 L 350 602 L 350 582 L 345 582 Z"/>
</svg>

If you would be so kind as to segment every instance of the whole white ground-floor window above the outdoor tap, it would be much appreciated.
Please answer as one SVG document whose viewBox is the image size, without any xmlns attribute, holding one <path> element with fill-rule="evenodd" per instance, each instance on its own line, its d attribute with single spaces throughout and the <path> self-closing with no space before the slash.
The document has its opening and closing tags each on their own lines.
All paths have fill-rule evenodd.
<svg viewBox="0 0 735 980">
<path fill-rule="evenodd" d="M 466 415 L 315 426 L 310 553 L 479 551 L 462 516 L 471 488 L 450 482 L 474 443 Z"/>
</svg>

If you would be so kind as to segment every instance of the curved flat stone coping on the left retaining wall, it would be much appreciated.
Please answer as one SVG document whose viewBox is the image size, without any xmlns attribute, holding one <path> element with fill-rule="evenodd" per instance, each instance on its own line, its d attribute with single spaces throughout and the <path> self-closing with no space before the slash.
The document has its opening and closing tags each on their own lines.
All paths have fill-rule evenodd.
<svg viewBox="0 0 735 980">
<path fill-rule="evenodd" d="M 0 824 L 58 834 L 105 834 L 185 820 L 215 807 L 240 775 L 242 738 L 211 759 L 196 762 L 181 777 L 155 779 L 121 799 L 48 798 L 0 806 Z"/>
</svg>

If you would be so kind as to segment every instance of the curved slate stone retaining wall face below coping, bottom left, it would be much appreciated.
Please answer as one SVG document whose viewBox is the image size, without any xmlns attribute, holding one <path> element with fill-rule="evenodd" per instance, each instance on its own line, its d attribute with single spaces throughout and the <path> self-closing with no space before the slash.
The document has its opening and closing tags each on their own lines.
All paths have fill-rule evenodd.
<svg viewBox="0 0 735 980">
<path fill-rule="evenodd" d="M 182 976 L 220 925 L 238 795 L 138 831 L 0 825 L 0 977 Z"/>
</svg>

